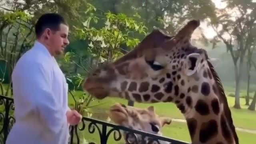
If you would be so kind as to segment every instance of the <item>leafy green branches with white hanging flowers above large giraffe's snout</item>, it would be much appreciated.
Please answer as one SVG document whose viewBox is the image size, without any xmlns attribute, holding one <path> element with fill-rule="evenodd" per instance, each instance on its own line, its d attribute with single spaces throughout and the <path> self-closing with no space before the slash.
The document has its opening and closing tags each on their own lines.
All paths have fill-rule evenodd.
<svg viewBox="0 0 256 144">
<path fill-rule="evenodd" d="M 96 8 L 86 11 L 90 14 L 83 22 L 84 27 L 76 28 L 76 38 L 89 41 L 88 50 L 97 59 L 96 63 L 120 57 L 122 55 L 120 49 L 123 45 L 134 48 L 140 42 L 138 38 L 134 38 L 134 33 L 146 35 L 144 23 L 137 22 L 125 14 L 106 12 L 100 19 L 104 22 L 104 26 L 101 28 L 91 27 L 91 21 L 97 24 L 99 20 L 91 11 L 96 12 Z"/>
</svg>

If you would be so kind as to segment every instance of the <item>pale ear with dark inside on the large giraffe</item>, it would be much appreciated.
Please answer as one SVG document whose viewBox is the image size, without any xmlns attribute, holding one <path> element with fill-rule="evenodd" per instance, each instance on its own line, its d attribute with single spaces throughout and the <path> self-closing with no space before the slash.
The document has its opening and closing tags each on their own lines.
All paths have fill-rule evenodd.
<svg viewBox="0 0 256 144">
<path fill-rule="evenodd" d="M 192 53 L 186 58 L 186 66 L 183 66 L 183 70 L 187 76 L 193 75 L 200 68 L 200 61 L 202 57 L 200 54 Z"/>
</svg>

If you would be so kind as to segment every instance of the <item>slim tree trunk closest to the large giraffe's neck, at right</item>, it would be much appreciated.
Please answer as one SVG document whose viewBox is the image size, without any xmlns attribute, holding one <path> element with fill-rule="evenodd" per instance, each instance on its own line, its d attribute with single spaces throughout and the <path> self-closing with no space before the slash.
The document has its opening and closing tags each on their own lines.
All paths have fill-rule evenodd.
<svg viewBox="0 0 256 144">
<path fill-rule="evenodd" d="M 241 67 L 241 64 L 239 64 L 239 71 L 238 71 L 238 68 L 237 68 L 237 65 L 234 65 L 235 66 L 235 77 L 236 77 L 236 92 L 235 92 L 235 104 L 234 104 L 234 108 L 238 108 L 240 109 L 240 81 L 241 81 L 241 74 L 239 73 L 240 68 Z"/>
</svg>

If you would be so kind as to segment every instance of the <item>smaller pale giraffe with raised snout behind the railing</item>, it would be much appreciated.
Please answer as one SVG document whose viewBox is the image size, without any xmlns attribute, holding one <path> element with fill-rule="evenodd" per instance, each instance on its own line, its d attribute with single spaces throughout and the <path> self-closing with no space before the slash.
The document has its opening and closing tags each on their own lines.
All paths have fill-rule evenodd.
<svg viewBox="0 0 256 144">
<path fill-rule="evenodd" d="M 154 111 L 154 106 L 149 106 L 148 108 L 135 108 L 132 106 L 125 106 L 124 104 L 115 103 L 110 107 L 109 110 L 110 119 L 118 125 L 125 126 L 135 130 L 141 130 L 151 134 L 157 134 L 162 136 L 161 129 L 165 124 L 170 124 L 172 122 L 171 118 L 160 117 Z M 130 142 L 135 142 L 132 136 L 128 136 L 128 132 L 123 133 L 126 144 Z M 137 136 L 137 142 L 148 144 L 149 140 L 146 137 L 144 142 L 142 142 L 141 136 Z M 126 139 L 128 136 L 128 139 Z M 128 142 L 128 141 L 129 142 Z M 170 144 L 170 142 L 160 141 L 160 144 Z"/>
</svg>

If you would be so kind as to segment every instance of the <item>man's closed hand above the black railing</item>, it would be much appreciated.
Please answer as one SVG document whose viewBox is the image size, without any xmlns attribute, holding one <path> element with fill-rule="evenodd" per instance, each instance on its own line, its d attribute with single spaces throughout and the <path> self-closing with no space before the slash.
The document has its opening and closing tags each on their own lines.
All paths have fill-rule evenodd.
<svg viewBox="0 0 256 144">
<path fill-rule="evenodd" d="M 82 120 L 82 115 L 79 114 L 76 110 L 68 110 L 66 112 L 68 123 L 72 126 L 78 124 Z"/>
</svg>

